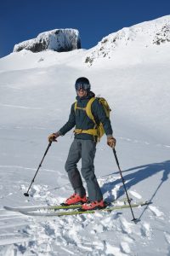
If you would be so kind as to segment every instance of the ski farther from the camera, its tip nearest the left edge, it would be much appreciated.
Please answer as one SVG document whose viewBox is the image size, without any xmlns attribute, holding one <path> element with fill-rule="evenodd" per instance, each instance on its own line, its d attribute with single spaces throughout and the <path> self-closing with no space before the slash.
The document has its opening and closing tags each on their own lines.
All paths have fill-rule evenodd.
<svg viewBox="0 0 170 256">
<path fill-rule="evenodd" d="M 132 201 L 132 199 L 130 199 Z M 111 203 L 116 202 L 127 202 L 127 198 L 122 198 L 120 200 L 111 201 Z M 54 205 L 54 206 L 37 206 L 37 207 L 3 207 L 5 210 L 11 212 L 35 212 L 38 210 L 61 210 L 61 209 L 78 209 L 82 208 L 81 204 L 71 205 L 71 206 L 62 206 L 62 205 Z"/>
</svg>

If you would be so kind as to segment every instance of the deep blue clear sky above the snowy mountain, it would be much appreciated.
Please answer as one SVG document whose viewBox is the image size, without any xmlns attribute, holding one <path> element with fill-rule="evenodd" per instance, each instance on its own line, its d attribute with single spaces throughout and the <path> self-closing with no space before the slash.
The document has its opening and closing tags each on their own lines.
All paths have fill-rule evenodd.
<svg viewBox="0 0 170 256">
<path fill-rule="evenodd" d="M 89 49 L 111 32 L 170 15 L 170 0 L 2 0 L 0 57 L 54 28 L 77 28 Z"/>
</svg>

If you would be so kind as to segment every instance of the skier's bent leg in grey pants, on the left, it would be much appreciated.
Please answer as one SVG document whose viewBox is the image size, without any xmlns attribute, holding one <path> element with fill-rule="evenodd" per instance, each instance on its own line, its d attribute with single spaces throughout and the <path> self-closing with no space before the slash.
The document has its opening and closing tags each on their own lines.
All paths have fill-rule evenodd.
<svg viewBox="0 0 170 256">
<path fill-rule="evenodd" d="M 68 154 L 68 158 L 65 163 L 65 171 L 68 173 L 68 177 L 71 182 L 71 186 L 75 193 L 83 197 L 86 195 L 86 190 L 82 185 L 82 177 L 77 169 L 77 162 L 82 157 L 82 144 L 80 140 L 75 139 L 71 143 L 71 148 Z"/>
</svg>

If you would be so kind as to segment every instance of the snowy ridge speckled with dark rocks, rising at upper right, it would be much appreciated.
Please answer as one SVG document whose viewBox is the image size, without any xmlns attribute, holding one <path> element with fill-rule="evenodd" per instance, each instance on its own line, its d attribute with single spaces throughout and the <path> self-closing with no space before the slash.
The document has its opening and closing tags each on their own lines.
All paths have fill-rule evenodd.
<svg viewBox="0 0 170 256">
<path fill-rule="evenodd" d="M 166 43 L 170 43 L 170 15 L 131 27 L 124 27 L 118 32 L 111 33 L 89 50 L 85 62 L 91 66 L 94 61 L 101 58 L 114 58 L 117 51 L 119 53 L 126 52 L 133 47 L 137 47 L 140 51 L 150 46 Z"/>
</svg>

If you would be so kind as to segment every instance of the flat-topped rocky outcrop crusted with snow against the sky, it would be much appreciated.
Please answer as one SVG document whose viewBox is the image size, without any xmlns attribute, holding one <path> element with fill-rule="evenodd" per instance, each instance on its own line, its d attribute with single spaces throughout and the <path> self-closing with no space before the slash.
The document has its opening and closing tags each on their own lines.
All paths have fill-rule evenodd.
<svg viewBox="0 0 170 256">
<path fill-rule="evenodd" d="M 55 51 L 70 51 L 81 48 L 81 39 L 77 29 L 54 29 L 40 33 L 37 38 L 26 40 L 14 45 L 14 52 L 21 49 L 29 49 L 32 52 L 40 52 L 45 49 Z"/>
</svg>

